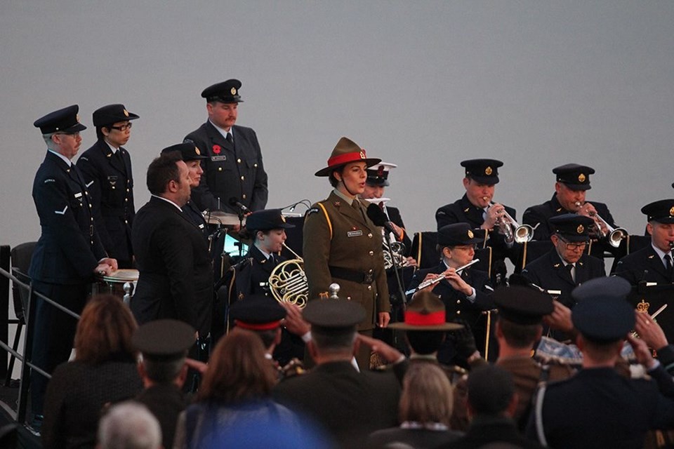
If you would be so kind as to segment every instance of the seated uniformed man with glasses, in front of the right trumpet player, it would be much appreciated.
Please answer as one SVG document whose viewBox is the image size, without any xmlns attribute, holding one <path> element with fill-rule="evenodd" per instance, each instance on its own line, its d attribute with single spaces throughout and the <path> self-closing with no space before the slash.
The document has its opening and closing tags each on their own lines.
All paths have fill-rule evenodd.
<svg viewBox="0 0 674 449">
<path fill-rule="evenodd" d="M 590 217 L 571 213 L 557 215 L 548 222 L 553 229 L 550 241 L 554 248 L 527 264 L 522 276 L 548 292 L 557 290 L 557 300 L 572 309 L 576 302 L 571 291 L 576 286 L 606 276 L 604 262 L 584 253 L 594 222 Z"/>
</svg>

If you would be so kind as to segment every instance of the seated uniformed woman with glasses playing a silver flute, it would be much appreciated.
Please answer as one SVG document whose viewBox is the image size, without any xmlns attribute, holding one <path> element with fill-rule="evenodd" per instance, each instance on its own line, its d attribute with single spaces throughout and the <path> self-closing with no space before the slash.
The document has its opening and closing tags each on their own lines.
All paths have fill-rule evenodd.
<svg viewBox="0 0 674 449">
<path fill-rule="evenodd" d="M 478 236 L 479 232 L 479 229 L 471 229 L 468 223 L 441 227 L 437 232 L 440 264 L 437 267 L 420 269 L 412 276 L 407 287 L 407 301 L 411 301 L 416 295 L 422 282 L 440 279 L 421 290 L 432 291 L 440 296 L 444 302 L 447 322 L 457 322 L 469 327 L 473 331 L 477 349 L 482 351 L 487 335 L 487 319 L 482 312 L 495 307 L 491 300 L 494 289 L 491 288 L 487 272 L 472 267 L 461 269 L 473 262 L 475 244 L 483 241 L 482 236 Z M 452 341 L 452 336 L 451 333 L 447 334 L 447 340 L 438 352 L 437 360 L 448 365 L 467 367 L 466 359 L 473 355 L 473 351 L 470 354 L 464 354 L 463 351 L 459 353 L 457 350 L 461 348 Z"/>
</svg>

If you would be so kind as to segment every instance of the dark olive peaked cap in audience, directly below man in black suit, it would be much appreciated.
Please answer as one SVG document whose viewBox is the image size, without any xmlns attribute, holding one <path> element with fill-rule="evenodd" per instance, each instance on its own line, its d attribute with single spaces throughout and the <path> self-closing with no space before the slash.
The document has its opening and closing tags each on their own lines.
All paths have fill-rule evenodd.
<svg viewBox="0 0 674 449">
<path fill-rule="evenodd" d="M 197 331 L 184 321 L 161 319 L 145 323 L 131 337 L 133 347 L 144 358 L 157 361 L 178 360 L 187 356 Z"/>
</svg>

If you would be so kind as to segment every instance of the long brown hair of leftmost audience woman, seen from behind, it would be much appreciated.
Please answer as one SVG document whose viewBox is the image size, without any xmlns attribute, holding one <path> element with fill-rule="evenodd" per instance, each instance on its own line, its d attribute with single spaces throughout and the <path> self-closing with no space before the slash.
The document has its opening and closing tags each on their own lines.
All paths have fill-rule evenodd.
<svg viewBox="0 0 674 449">
<path fill-rule="evenodd" d="M 136 319 L 113 295 L 97 295 L 84 307 L 75 333 L 75 360 L 86 363 L 133 361 Z"/>
</svg>

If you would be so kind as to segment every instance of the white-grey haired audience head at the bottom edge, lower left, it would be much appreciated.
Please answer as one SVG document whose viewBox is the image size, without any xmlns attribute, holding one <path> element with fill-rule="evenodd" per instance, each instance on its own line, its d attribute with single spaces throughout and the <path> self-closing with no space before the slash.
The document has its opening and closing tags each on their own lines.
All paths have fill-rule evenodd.
<svg viewBox="0 0 674 449">
<path fill-rule="evenodd" d="M 98 424 L 99 449 L 159 449 L 161 428 L 143 404 L 122 402 L 112 406 Z"/>
</svg>

